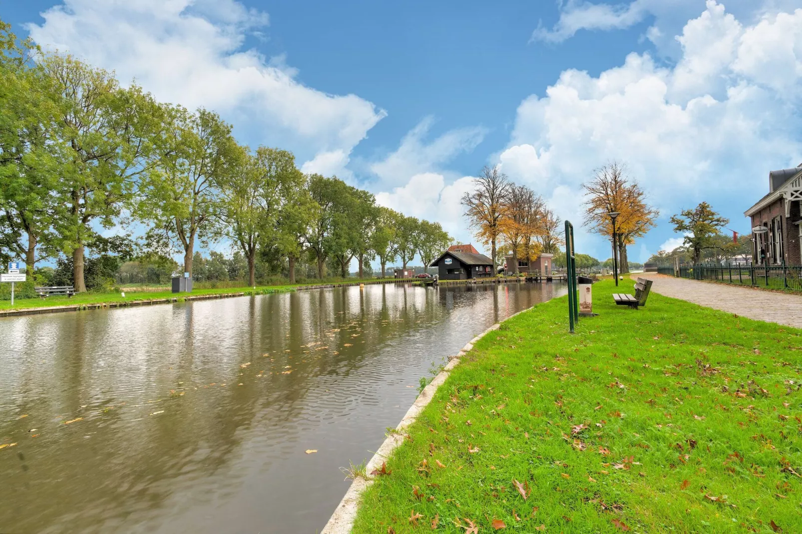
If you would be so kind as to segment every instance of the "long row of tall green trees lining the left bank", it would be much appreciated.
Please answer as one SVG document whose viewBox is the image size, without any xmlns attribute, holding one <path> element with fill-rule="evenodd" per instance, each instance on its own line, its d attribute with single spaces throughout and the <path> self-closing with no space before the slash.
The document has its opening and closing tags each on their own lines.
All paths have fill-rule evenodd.
<svg viewBox="0 0 802 534">
<path fill-rule="evenodd" d="M 428 265 L 451 237 L 440 225 L 379 207 L 336 177 L 305 175 L 286 150 L 238 144 L 213 111 L 160 103 L 113 73 L 44 54 L 0 21 L 0 256 L 28 267 L 61 257 L 86 290 L 87 249 L 102 229 L 132 222 L 144 248 L 182 253 L 192 274 L 198 242 L 227 239 L 255 283 L 257 254 L 294 265 L 379 258 Z M 66 265 L 66 264 L 65 264 Z"/>
</svg>

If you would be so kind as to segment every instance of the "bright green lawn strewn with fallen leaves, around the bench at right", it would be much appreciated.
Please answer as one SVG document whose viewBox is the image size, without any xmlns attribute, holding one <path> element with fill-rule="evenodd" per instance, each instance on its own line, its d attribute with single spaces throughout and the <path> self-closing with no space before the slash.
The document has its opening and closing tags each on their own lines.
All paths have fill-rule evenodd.
<svg viewBox="0 0 802 534">
<path fill-rule="evenodd" d="M 802 331 L 593 293 L 576 334 L 563 297 L 476 343 L 354 532 L 802 532 Z"/>
</svg>

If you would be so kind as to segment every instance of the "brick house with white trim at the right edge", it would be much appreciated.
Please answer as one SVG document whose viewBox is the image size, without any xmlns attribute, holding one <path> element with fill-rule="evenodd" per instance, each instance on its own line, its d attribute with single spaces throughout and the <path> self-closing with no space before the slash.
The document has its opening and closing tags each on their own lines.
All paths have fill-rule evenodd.
<svg viewBox="0 0 802 534">
<path fill-rule="evenodd" d="M 768 195 L 743 212 L 751 218 L 754 265 L 802 265 L 800 204 L 802 164 L 769 172 Z"/>
</svg>

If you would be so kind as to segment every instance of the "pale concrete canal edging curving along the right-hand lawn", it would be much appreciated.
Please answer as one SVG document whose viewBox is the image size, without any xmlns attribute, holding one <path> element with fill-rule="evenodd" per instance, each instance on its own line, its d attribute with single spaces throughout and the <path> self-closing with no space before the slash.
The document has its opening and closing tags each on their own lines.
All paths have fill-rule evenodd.
<svg viewBox="0 0 802 534">
<path fill-rule="evenodd" d="M 524 312 L 533 308 L 534 306 L 531 308 L 522 309 L 517 314 L 510 315 L 502 322 L 509 321 L 516 315 L 523 314 Z M 437 376 L 435 376 L 435 378 L 429 382 L 429 385 L 423 389 L 421 394 L 418 395 L 418 398 L 415 399 L 415 403 L 412 404 L 410 409 L 407 411 L 407 414 L 403 416 L 403 419 L 401 419 L 401 423 L 395 427 L 395 430 L 399 431 L 399 433 L 387 436 L 387 439 L 385 439 L 381 444 L 379 450 L 375 452 L 373 458 L 371 458 L 371 460 L 367 463 L 365 472 L 370 473 L 374 469 L 380 469 L 382 467 L 382 463 L 386 462 L 387 459 L 391 457 L 393 451 L 395 451 L 395 449 L 400 447 L 400 445 L 403 443 L 403 434 L 401 432 L 405 428 L 409 427 L 412 423 L 415 423 L 415 421 L 418 419 L 418 416 L 423 411 L 423 408 L 427 407 L 428 403 L 431 402 L 431 399 L 434 398 L 437 388 L 444 384 L 446 378 L 448 378 L 448 375 L 451 374 L 454 367 L 460 363 L 462 357 L 473 348 L 476 342 L 478 342 L 481 338 L 484 338 L 486 334 L 492 332 L 493 330 L 498 330 L 502 322 L 496 322 L 495 325 L 491 326 L 487 330 L 484 330 L 484 332 L 477 335 L 476 338 L 473 338 L 471 341 L 466 343 L 455 357 L 449 359 L 443 370 L 441 370 Z M 323 528 L 320 534 L 349 534 L 351 529 L 354 528 L 354 520 L 356 520 L 356 515 L 359 509 L 360 497 L 368 487 L 371 487 L 372 483 L 372 479 L 354 479 L 350 487 L 348 487 L 346 495 L 342 497 L 340 504 L 337 505 L 337 508 L 334 510 L 334 513 L 331 515 L 329 521 L 326 523 L 326 526 Z"/>
</svg>

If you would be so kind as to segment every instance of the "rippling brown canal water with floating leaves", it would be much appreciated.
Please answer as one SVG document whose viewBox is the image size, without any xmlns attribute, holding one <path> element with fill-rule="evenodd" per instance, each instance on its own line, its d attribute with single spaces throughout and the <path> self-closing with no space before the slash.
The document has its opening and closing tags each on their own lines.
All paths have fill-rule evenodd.
<svg viewBox="0 0 802 534">
<path fill-rule="evenodd" d="M 0 532 L 319 532 L 339 467 L 372 456 L 421 377 L 565 292 L 368 285 L 2 318 Z"/>
</svg>

